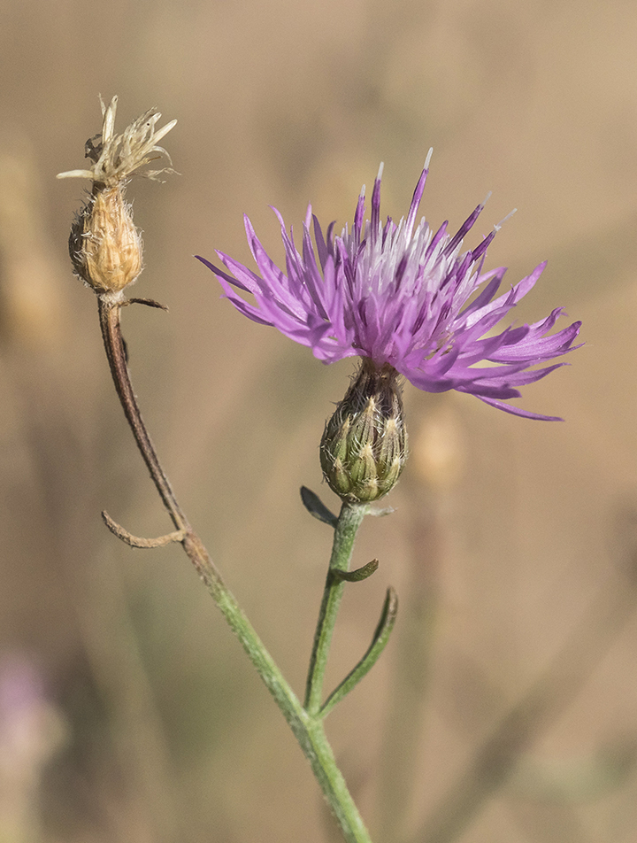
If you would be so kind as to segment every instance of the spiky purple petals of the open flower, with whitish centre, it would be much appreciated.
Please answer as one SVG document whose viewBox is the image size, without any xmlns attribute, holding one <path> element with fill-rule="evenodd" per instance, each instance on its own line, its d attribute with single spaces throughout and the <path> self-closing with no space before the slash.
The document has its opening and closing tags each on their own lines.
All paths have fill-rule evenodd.
<svg viewBox="0 0 637 843">
<path fill-rule="evenodd" d="M 447 222 L 434 234 L 421 220 L 418 205 L 425 189 L 431 151 L 411 200 L 407 220 L 380 221 L 380 177 L 372 192 L 372 219 L 365 221 L 365 188 L 354 223 L 334 236 L 334 222 L 323 233 L 308 208 L 303 245 L 296 249 L 278 211 L 286 251 L 285 272 L 268 257 L 250 221 L 245 228 L 260 275 L 223 252 L 229 273 L 199 258 L 219 278 L 240 313 L 272 325 L 295 342 L 311 347 L 324 363 L 345 357 L 389 364 L 420 390 L 469 392 L 487 404 L 530 419 L 554 421 L 503 403 L 518 398 L 518 387 L 533 383 L 564 363 L 533 368 L 572 351 L 580 322 L 549 334 L 558 307 L 532 325 L 493 329 L 533 289 L 546 266 L 541 263 L 510 290 L 496 297 L 505 267 L 482 272 L 487 246 L 499 226 L 469 251 L 463 238 L 484 204 L 449 235 Z M 313 220 L 314 244 L 310 222 Z M 254 304 L 240 293 L 249 292 Z M 481 365 L 480 365 L 481 364 Z"/>
</svg>

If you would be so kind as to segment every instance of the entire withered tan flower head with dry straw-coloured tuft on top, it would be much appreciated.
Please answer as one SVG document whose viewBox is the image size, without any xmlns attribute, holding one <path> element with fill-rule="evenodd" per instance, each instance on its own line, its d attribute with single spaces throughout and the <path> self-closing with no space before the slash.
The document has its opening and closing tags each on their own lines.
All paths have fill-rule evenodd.
<svg viewBox="0 0 637 843">
<path fill-rule="evenodd" d="M 121 296 L 142 272 L 142 237 L 133 221 L 131 205 L 125 200 L 128 180 L 150 161 L 170 156 L 157 143 L 175 125 L 171 120 L 156 130 L 161 114 L 151 108 L 134 120 L 121 135 L 115 135 L 118 98 L 102 104 L 102 133 L 86 143 L 86 157 L 93 165 L 84 170 L 69 170 L 58 179 L 87 178 L 93 189 L 71 228 L 69 253 L 73 269 L 98 295 Z M 157 154 L 156 154 L 157 153 Z M 147 170 L 146 178 L 157 179 L 170 167 Z"/>
</svg>

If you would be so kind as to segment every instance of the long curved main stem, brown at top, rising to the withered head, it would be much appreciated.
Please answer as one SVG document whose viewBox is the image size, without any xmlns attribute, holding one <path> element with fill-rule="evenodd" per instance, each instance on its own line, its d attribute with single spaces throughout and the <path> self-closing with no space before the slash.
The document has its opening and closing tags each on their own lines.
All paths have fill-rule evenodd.
<svg viewBox="0 0 637 843">
<path fill-rule="evenodd" d="M 334 817 L 341 827 L 342 834 L 347 843 L 372 843 L 365 824 L 358 813 L 357 807 L 352 800 L 341 771 L 336 766 L 334 753 L 326 739 L 326 733 L 320 719 L 305 711 L 295 692 L 288 685 L 280 672 L 272 656 L 267 652 L 265 646 L 257 636 L 257 632 L 249 623 L 248 618 L 243 615 L 232 592 L 224 584 L 219 570 L 211 561 L 211 557 L 203 545 L 201 539 L 196 535 L 188 523 L 186 515 L 181 510 L 173 489 L 165 476 L 157 458 L 157 452 L 150 441 L 150 437 L 142 421 L 137 399 L 135 398 L 133 386 L 130 381 L 126 352 L 121 336 L 119 324 L 119 311 L 123 300 L 110 300 L 99 298 L 99 316 L 104 338 L 106 355 L 111 366 L 111 375 L 119 400 L 126 414 L 127 421 L 133 431 L 137 446 L 142 452 L 142 457 L 150 470 L 150 476 L 157 487 L 157 491 L 164 502 L 173 523 L 178 530 L 183 531 L 181 545 L 193 563 L 199 576 L 203 579 L 212 599 L 219 607 L 226 622 L 241 641 L 242 647 L 249 656 L 249 660 L 257 669 L 258 675 L 262 678 L 268 691 L 276 704 L 279 706 L 283 716 L 294 732 L 303 754 L 310 762 L 312 772 L 316 777 L 321 790 L 323 791 L 327 804 L 332 810 Z M 344 509 L 345 507 L 343 507 Z M 356 527 L 360 523 L 363 513 L 357 519 Z M 356 519 L 354 519 L 356 521 Z M 349 530 L 345 530 L 343 520 L 342 530 L 349 536 Z M 351 545 L 354 542 L 356 527 L 349 538 L 349 554 Z M 338 528 L 337 528 L 338 533 Z M 334 546 L 337 544 L 334 538 Z M 334 553 L 333 553 L 334 558 Z M 349 562 L 349 555 L 347 558 Z"/>
</svg>

